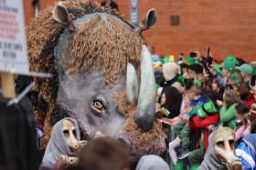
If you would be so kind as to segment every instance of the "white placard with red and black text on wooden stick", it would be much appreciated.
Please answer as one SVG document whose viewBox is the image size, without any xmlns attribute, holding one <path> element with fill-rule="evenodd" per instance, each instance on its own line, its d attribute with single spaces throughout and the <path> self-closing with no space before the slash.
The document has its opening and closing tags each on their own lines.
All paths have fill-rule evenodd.
<svg viewBox="0 0 256 170">
<path fill-rule="evenodd" d="M 0 0 L 0 71 L 28 74 L 22 0 Z"/>
</svg>

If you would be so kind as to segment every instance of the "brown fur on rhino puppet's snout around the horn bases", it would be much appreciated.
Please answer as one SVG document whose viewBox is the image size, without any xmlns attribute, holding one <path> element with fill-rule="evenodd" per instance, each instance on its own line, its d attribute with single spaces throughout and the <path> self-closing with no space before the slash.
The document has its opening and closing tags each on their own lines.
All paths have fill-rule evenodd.
<svg viewBox="0 0 256 170">
<path fill-rule="evenodd" d="M 162 125 L 155 123 L 152 127 L 152 130 L 148 132 L 143 132 L 136 124 L 135 124 L 135 115 L 137 110 L 137 104 L 133 101 L 133 104 L 126 105 L 126 95 L 125 91 L 123 94 L 116 95 L 115 104 L 118 106 L 118 109 L 128 116 L 127 124 L 123 126 L 123 128 L 129 131 L 129 140 L 132 144 L 141 144 L 141 145 L 150 145 L 150 142 L 159 138 L 159 136 L 165 136 L 165 132 L 162 129 Z"/>
</svg>

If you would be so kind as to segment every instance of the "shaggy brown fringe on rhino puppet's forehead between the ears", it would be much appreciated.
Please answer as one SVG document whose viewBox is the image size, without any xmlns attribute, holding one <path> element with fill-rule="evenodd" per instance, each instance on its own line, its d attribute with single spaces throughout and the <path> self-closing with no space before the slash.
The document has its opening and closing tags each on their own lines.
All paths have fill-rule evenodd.
<svg viewBox="0 0 256 170">
<path fill-rule="evenodd" d="M 129 62 L 140 63 L 143 41 L 140 35 L 131 32 L 117 19 L 108 17 L 107 20 L 105 22 L 97 15 L 74 35 L 71 45 L 66 47 L 70 49 L 72 46 L 72 50 L 66 51 L 64 66 L 67 65 L 69 72 L 76 74 L 82 69 L 90 70 L 92 65 L 95 65 L 94 69 L 105 65 L 104 83 L 112 85 L 117 77 L 125 73 Z"/>
</svg>

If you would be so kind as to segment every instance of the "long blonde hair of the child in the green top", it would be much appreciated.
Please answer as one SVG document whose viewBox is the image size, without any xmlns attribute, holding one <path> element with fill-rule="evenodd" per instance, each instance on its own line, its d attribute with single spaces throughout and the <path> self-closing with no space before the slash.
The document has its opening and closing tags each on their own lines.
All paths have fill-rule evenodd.
<svg viewBox="0 0 256 170">
<path fill-rule="evenodd" d="M 241 103 L 240 96 L 232 89 L 226 89 L 225 97 L 223 98 L 223 102 L 226 105 L 227 109 L 230 105 Z"/>
</svg>

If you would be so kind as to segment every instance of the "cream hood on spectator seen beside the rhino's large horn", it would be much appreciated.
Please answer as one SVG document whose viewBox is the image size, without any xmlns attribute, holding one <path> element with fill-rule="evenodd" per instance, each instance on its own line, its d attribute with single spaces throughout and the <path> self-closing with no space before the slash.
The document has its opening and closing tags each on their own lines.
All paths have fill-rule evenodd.
<svg viewBox="0 0 256 170">
<path fill-rule="evenodd" d="M 179 70 L 179 65 L 177 65 L 176 63 L 169 62 L 163 65 L 163 74 L 166 81 L 163 88 L 164 92 L 165 92 L 165 88 L 167 88 L 168 86 L 174 86 L 176 87 L 178 92 L 181 93 L 181 85 L 177 80 L 178 70 Z M 163 94 L 163 91 L 162 91 L 162 94 Z"/>
</svg>

